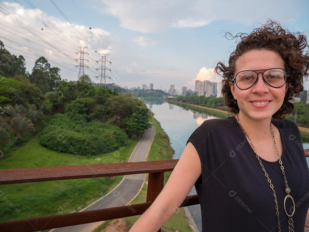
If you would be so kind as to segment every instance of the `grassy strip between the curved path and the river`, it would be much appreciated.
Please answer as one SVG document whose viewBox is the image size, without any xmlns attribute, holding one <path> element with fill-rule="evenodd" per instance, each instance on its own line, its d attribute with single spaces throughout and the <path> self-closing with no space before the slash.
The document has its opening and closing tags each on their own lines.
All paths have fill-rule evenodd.
<svg viewBox="0 0 309 232">
<path fill-rule="evenodd" d="M 161 128 L 160 123 L 153 118 L 152 119 L 152 124 L 155 126 L 156 133 L 155 133 L 155 138 L 154 141 L 152 142 L 152 145 L 150 147 L 150 151 L 147 157 L 147 161 L 155 161 L 155 160 L 167 160 L 167 159 L 172 159 L 172 155 L 174 154 L 174 150 L 170 146 L 170 140 L 167 134 L 164 132 L 164 130 Z M 165 172 L 164 173 L 164 185 L 167 182 L 167 179 L 170 177 L 171 171 L 170 172 Z M 148 179 L 148 174 L 146 174 L 146 178 Z M 138 196 L 131 202 L 131 204 L 139 204 L 146 202 L 146 196 L 147 196 L 147 184 L 144 184 L 141 192 L 138 194 Z M 133 216 L 133 217 L 125 217 L 125 219 L 133 225 L 135 221 L 138 220 L 138 216 Z M 109 221 L 105 221 L 99 228 L 95 231 L 101 231 L 103 228 L 105 228 Z M 176 231 L 193 231 L 191 227 L 189 226 L 187 219 L 184 215 L 184 211 L 182 208 L 175 213 L 163 226 L 161 231 L 166 231 L 166 232 L 176 232 Z"/>
</svg>

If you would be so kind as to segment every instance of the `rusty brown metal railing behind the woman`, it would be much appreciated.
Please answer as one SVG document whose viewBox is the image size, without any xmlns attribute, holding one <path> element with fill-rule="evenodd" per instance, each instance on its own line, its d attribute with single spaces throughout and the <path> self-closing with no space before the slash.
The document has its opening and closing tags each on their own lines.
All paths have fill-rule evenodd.
<svg viewBox="0 0 309 232">
<path fill-rule="evenodd" d="M 304 149 L 309 157 L 309 149 Z M 149 173 L 146 202 L 0 223 L 0 231 L 32 232 L 97 221 L 141 215 L 163 189 L 164 172 L 173 171 L 179 159 L 0 170 L 0 184 L 29 183 Z M 200 204 L 197 195 L 187 196 L 180 207 Z M 135 209 L 132 211 L 132 207 Z M 159 232 L 161 229 L 159 230 Z"/>
</svg>

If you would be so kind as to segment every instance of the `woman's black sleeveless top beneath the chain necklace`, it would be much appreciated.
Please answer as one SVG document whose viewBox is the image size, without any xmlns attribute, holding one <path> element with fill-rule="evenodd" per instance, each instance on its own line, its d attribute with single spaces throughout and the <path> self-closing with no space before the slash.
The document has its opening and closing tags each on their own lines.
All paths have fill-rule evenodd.
<svg viewBox="0 0 309 232">
<path fill-rule="evenodd" d="M 271 121 L 283 143 L 281 161 L 295 203 L 294 231 L 303 232 L 309 207 L 309 170 L 302 138 L 293 120 Z M 189 141 L 201 160 L 202 174 L 194 185 L 201 204 L 202 232 L 278 231 L 273 191 L 237 119 L 205 120 L 187 144 Z M 283 206 L 286 186 L 279 159 L 260 160 L 276 192 L 281 231 L 288 232 Z M 286 211 L 293 213 L 290 198 Z"/>
</svg>

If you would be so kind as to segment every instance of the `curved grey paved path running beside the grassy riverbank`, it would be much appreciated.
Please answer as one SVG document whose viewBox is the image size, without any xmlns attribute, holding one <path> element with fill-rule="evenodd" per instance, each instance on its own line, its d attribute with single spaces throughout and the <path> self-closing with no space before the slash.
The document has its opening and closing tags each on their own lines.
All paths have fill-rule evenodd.
<svg viewBox="0 0 309 232">
<path fill-rule="evenodd" d="M 155 127 L 152 125 L 147 128 L 134 148 L 129 162 L 146 161 L 148 152 L 150 150 L 150 145 L 155 137 Z M 121 182 L 105 196 L 96 200 L 91 205 L 82 209 L 81 211 L 88 211 L 94 209 L 105 209 L 116 206 L 123 206 L 129 204 L 142 189 L 146 173 L 125 175 Z M 104 221 L 81 224 L 76 226 L 66 226 L 61 228 L 56 228 L 50 231 L 53 232 L 91 232 L 95 230 L 98 225 L 102 224 Z M 49 232 L 50 232 L 49 231 Z"/>
</svg>

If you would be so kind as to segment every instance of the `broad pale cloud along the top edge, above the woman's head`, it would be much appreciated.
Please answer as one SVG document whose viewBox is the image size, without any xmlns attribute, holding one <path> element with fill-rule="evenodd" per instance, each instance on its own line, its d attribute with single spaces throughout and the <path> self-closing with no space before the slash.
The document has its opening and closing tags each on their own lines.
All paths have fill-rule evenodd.
<svg viewBox="0 0 309 232">
<path fill-rule="evenodd" d="M 288 21 L 293 17 L 297 18 L 300 11 L 304 10 L 299 6 L 305 4 L 304 0 L 261 0 L 259 5 L 243 0 L 101 1 L 106 5 L 102 9 L 104 14 L 118 18 L 121 27 L 143 33 L 161 33 L 170 27 L 202 27 L 214 20 L 230 20 L 240 24 L 246 24 L 248 21 L 254 23 L 261 21 L 261 15 Z M 279 5 L 285 7 L 274 11 Z"/>
</svg>

